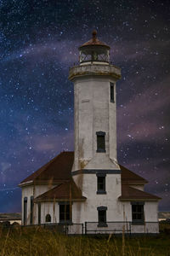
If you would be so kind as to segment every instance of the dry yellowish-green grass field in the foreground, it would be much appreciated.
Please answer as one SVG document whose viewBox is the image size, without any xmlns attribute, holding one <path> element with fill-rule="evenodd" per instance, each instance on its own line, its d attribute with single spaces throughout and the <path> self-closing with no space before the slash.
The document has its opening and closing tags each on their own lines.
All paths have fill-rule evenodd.
<svg viewBox="0 0 170 256">
<path fill-rule="evenodd" d="M 65 236 L 50 230 L 0 230 L 1 256 L 170 256 L 170 235 L 140 237 Z"/>
</svg>

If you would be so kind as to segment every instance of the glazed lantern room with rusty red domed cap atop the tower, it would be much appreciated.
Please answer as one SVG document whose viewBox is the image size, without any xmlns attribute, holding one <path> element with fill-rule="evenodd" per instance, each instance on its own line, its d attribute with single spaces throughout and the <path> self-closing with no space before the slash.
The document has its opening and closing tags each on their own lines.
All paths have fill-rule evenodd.
<svg viewBox="0 0 170 256">
<path fill-rule="evenodd" d="M 110 61 L 110 46 L 99 41 L 96 37 L 97 32 L 94 30 L 92 39 L 79 47 L 80 65 L 95 63 L 109 64 Z"/>
</svg>

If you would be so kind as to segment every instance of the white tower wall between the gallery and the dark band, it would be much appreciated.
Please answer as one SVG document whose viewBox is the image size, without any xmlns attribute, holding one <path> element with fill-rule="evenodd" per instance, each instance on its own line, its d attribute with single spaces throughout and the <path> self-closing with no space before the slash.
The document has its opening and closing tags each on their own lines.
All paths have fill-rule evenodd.
<svg viewBox="0 0 170 256">
<path fill-rule="evenodd" d="M 110 100 L 110 82 L 114 83 L 115 102 Z M 99 169 L 104 154 L 96 154 L 96 131 L 105 131 L 105 169 L 118 168 L 116 160 L 116 79 L 110 76 L 84 76 L 74 79 L 75 161 L 74 170 Z M 95 160 L 96 159 L 96 160 Z"/>
</svg>

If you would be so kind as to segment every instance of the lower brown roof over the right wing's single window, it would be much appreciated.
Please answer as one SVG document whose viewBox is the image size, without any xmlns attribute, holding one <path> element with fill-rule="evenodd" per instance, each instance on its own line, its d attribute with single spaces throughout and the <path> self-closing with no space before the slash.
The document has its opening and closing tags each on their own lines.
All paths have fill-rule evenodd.
<svg viewBox="0 0 170 256">
<path fill-rule="evenodd" d="M 119 196 L 120 201 L 158 201 L 160 199 L 156 195 L 151 195 L 139 189 L 133 189 L 127 184 L 122 184 L 122 195 Z"/>
</svg>

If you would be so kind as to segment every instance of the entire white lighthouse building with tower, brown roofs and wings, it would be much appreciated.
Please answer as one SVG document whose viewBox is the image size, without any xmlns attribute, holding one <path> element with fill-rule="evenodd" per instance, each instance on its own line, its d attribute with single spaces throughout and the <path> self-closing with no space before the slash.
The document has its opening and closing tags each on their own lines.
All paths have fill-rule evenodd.
<svg viewBox="0 0 170 256">
<path fill-rule="evenodd" d="M 79 48 L 74 83 L 75 152 L 63 152 L 20 183 L 22 224 L 67 224 L 70 233 L 158 233 L 159 197 L 116 159 L 116 81 L 110 47 Z"/>
</svg>

